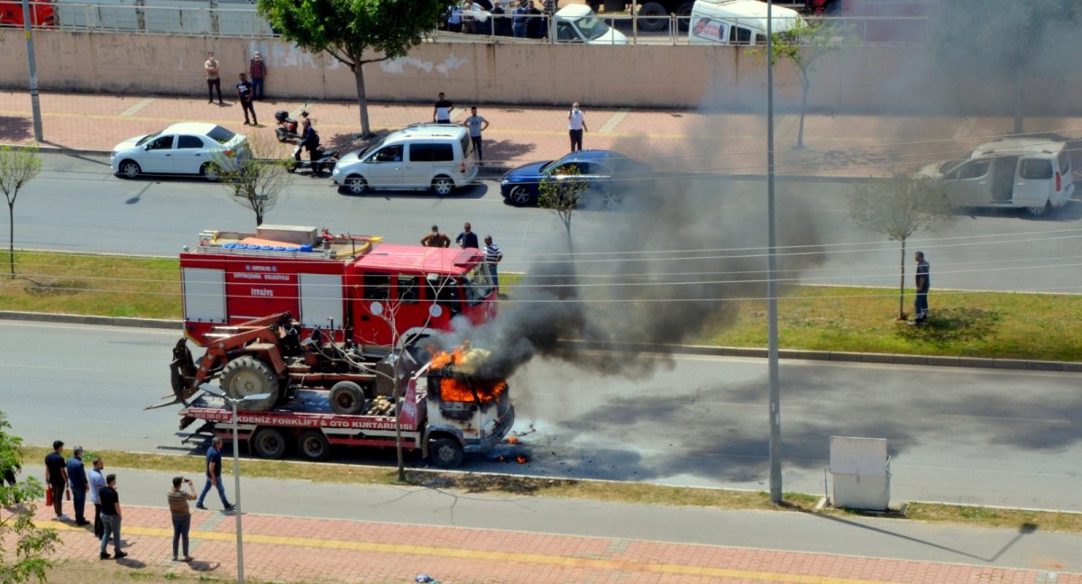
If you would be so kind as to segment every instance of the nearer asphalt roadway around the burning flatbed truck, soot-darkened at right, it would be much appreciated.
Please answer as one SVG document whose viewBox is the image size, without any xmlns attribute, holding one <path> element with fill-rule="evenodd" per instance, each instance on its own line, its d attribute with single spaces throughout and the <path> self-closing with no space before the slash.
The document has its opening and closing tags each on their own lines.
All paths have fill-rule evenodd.
<svg viewBox="0 0 1082 584">
<path fill-rule="evenodd" d="M 28 443 L 186 453 L 169 393 L 176 332 L 0 321 L 0 409 Z M 60 356 L 60 357 L 57 357 Z M 783 482 L 821 493 L 830 436 L 887 438 L 896 501 L 1082 510 L 1078 375 L 786 361 Z M 511 380 L 527 464 L 472 470 L 766 488 L 766 366 L 678 357 L 613 380 L 533 361 Z M 344 454 L 344 455 L 343 455 Z M 338 460 L 390 464 L 390 453 Z M 415 457 L 411 464 L 422 464 Z"/>
</svg>

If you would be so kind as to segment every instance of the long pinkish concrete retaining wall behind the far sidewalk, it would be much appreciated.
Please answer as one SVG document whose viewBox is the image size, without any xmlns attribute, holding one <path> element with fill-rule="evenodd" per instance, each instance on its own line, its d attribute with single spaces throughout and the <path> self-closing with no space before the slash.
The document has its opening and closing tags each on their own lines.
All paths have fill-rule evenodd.
<svg viewBox="0 0 1082 584">
<path fill-rule="evenodd" d="M 27 87 L 21 35 L 3 35 L 8 63 L 0 87 Z M 245 70 L 253 51 L 267 61 L 266 91 L 278 97 L 353 99 L 353 72 L 325 55 L 273 40 L 38 31 L 39 84 L 47 91 L 202 95 L 202 62 L 214 51 L 223 78 Z M 550 44 L 425 43 L 408 57 L 367 65 L 374 101 L 431 102 L 438 91 L 458 102 L 758 110 L 765 108 L 762 57 L 729 47 L 582 47 Z M 800 103 L 800 76 L 791 64 L 776 69 L 778 105 Z M 1031 115 L 1068 115 L 1082 105 L 1082 80 L 1032 85 Z M 947 78 L 914 48 L 860 48 L 831 54 L 814 72 L 809 107 L 845 112 L 1012 111 L 1010 88 Z"/>
</svg>

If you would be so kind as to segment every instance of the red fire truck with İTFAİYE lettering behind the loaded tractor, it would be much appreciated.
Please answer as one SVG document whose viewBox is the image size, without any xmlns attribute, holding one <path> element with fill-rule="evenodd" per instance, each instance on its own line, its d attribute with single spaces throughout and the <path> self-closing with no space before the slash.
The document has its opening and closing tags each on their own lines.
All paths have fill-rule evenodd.
<svg viewBox="0 0 1082 584">
<path fill-rule="evenodd" d="M 497 291 L 477 249 L 382 243 L 315 227 L 264 225 L 203 231 L 181 253 L 186 335 L 206 346 L 212 329 L 289 311 L 301 333 L 390 347 L 449 330 L 456 318 L 496 316 Z"/>
</svg>

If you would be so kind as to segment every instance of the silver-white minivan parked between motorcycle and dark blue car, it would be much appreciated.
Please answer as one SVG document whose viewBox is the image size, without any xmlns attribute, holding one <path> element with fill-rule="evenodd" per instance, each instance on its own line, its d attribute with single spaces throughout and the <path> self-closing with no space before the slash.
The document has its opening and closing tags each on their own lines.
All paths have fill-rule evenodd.
<svg viewBox="0 0 1082 584">
<path fill-rule="evenodd" d="M 477 178 L 470 132 L 449 123 L 419 123 L 387 134 L 339 160 L 334 184 L 351 195 L 369 189 L 432 189 L 451 195 Z"/>
</svg>

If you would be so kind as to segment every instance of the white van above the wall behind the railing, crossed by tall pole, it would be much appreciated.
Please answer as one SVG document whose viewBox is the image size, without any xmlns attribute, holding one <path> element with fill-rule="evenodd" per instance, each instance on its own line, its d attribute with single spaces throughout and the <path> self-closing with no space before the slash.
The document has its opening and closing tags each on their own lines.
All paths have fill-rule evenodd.
<svg viewBox="0 0 1082 584">
<path fill-rule="evenodd" d="M 774 6 L 774 32 L 804 23 L 793 9 Z M 696 0 L 687 29 L 690 44 L 766 44 L 766 2 L 760 0 Z"/>
</svg>

